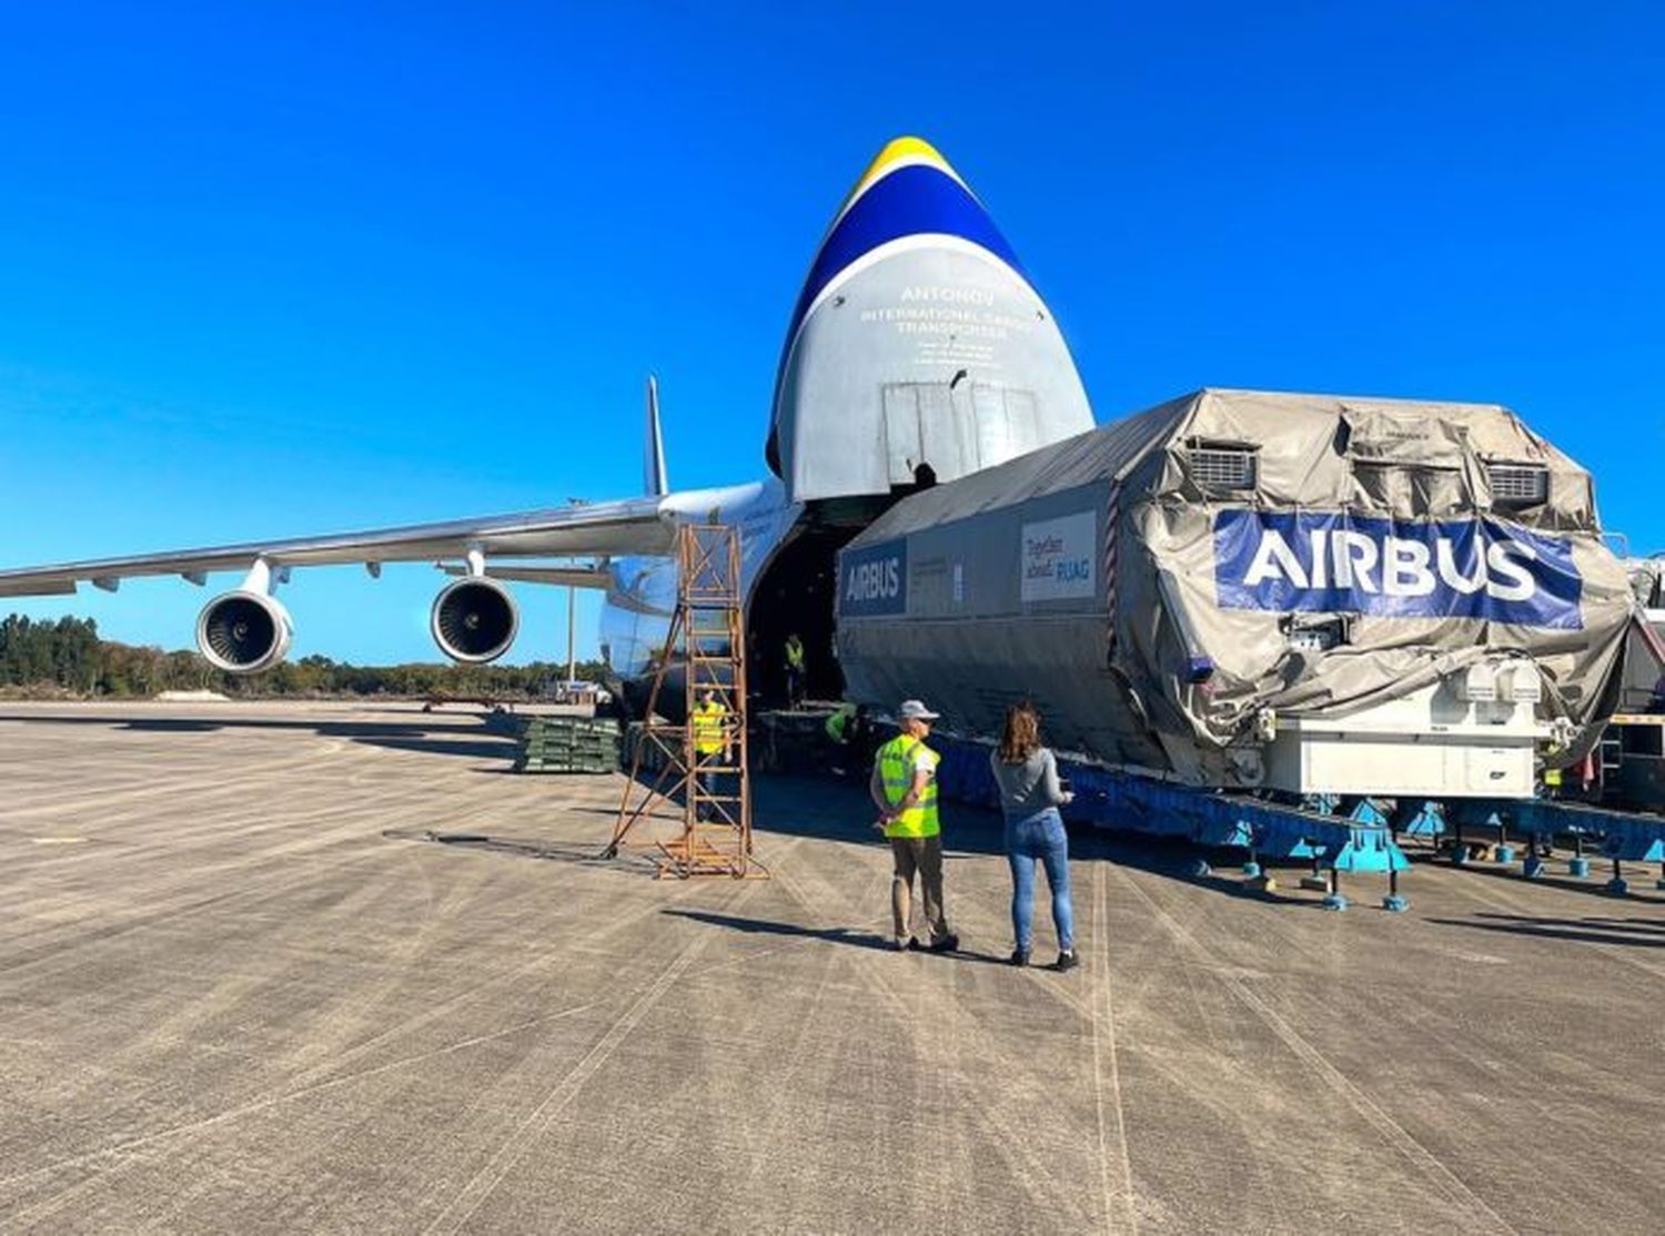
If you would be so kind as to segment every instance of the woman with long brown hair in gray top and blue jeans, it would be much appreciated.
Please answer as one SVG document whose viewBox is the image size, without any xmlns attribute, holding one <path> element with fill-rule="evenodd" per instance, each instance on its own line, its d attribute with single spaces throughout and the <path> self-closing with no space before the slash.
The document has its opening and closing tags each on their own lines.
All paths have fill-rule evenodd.
<svg viewBox="0 0 1665 1236">
<path fill-rule="evenodd" d="M 1041 745 L 1032 704 L 1006 710 L 1001 745 L 989 754 L 1006 817 L 1006 862 L 1012 868 L 1012 965 L 1029 965 L 1034 947 L 1036 862 L 1046 867 L 1057 928 L 1054 970 L 1076 968 L 1076 912 L 1069 900 L 1069 835 L 1057 808 L 1074 798 L 1057 780 L 1057 757 Z"/>
</svg>

